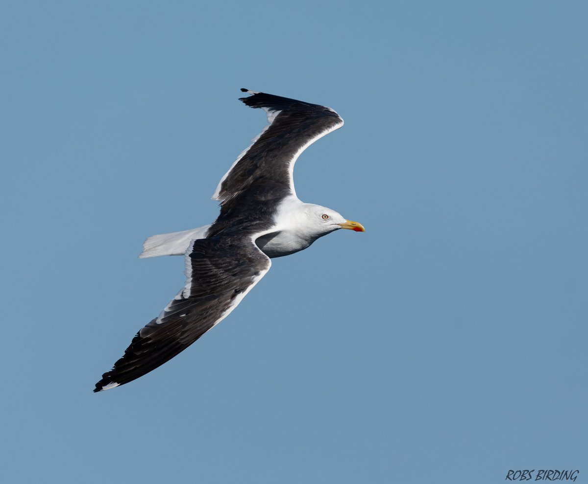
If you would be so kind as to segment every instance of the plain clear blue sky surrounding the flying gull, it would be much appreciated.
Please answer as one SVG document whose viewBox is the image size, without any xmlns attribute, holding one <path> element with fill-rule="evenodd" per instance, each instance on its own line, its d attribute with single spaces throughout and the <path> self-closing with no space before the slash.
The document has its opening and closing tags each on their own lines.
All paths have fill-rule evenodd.
<svg viewBox="0 0 588 484">
<path fill-rule="evenodd" d="M 2 480 L 588 477 L 586 2 L 2 2 Z M 92 389 L 183 285 L 266 123 L 345 126 L 298 196 L 358 220 L 214 330 Z"/>
</svg>

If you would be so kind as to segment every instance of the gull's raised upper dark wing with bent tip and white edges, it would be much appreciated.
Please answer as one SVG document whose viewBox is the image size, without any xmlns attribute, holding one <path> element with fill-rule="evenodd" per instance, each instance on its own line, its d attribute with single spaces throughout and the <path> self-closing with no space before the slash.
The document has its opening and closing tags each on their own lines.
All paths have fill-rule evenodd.
<svg viewBox="0 0 588 484">
<path fill-rule="evenodd" d="M 285 193 L 295 194 L 292 172 L 296 159 L 310 144 L 343 126 L 343 119 L 330 107 L 241 90 L 252 96 L 240 100 L 250 107 L 264 109 L 269 125 L 239 155 L 212 198 L 225 201 L 253 184 L 257 188 L 260 180 L 266 184 L 272 181 L 273 186 L 280 184 Z"/>
</svg>

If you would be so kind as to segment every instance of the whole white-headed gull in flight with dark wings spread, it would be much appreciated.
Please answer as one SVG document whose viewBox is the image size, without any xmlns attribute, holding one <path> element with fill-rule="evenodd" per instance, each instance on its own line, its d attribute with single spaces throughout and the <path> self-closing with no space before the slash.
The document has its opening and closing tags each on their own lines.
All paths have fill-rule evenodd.
<svg viewBox="0 0 588 484">
<path fill-rule="evenodd" d="M 125 355 L 102 375 L 95 392 L 123 385 L 173 358 L 233 311 L 265 275 L 270 258 L 308 248 L 319 237 L 357 222 L 296 197 L 293 168 L 303 150 L 343 126 L 329 107 L 242 89 L 261 107 L 267 125 L 230 167 L 213 199 L 215 222 L 149 237 L 139 257 L 186 257 L 186 284 L 161 314 L 133 338 Z"/>
</svg>

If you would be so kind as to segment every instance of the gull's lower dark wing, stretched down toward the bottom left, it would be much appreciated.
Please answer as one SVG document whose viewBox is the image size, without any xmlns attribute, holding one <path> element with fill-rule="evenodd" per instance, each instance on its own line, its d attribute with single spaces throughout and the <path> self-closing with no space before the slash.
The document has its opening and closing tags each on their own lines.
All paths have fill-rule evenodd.
<svg viewBox="0 0 588 484">
<path fill-rule="evenodd" d="M 124 385 L 159 367 L 222 321 L 268 272 L 271 262 L 254 238 L 217 236 L 186 251 L 186 285 L 159 317 L 139 330 L 95 392 Z"/>
</svg>

